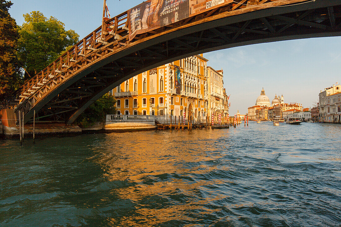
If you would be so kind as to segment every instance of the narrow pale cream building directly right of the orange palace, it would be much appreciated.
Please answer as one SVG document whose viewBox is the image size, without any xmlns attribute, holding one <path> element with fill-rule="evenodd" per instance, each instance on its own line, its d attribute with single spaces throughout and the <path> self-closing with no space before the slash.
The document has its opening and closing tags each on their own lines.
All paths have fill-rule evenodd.
<svg viewBox="0 0 341 227">
<path fill-rule="evenodd" d="M 224 82 L 223 82 L 223 70 L 214 70 L 212 67 L 207 66 L 207 94 L 208 94 L 208 116 L 214 115 L 214 118 L 217 119 L 219 113 L 222 116 L 227 117 L 227 110 L 226 106 L 227 101 L 225 100 L 224 96 L 226 97 L 227 94 L 225 92 L 224 95 Z"/>
</svg>

